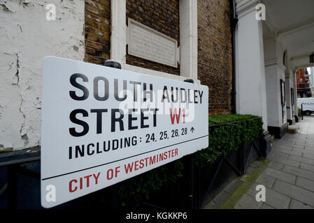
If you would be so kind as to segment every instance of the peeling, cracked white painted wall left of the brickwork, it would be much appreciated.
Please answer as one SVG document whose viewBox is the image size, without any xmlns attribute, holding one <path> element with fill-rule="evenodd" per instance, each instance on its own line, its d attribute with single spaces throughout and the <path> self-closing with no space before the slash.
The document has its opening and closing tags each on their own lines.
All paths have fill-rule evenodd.
<svg viewBox="0 0 314 223">
<path fill-rule="evenodd" d="M 45 6 L 56 6 L 47 21 Z M 84 0 L 0 0 L 0 151 L 40 145 L 45 56 L 83 61 Z"/>
</svg>

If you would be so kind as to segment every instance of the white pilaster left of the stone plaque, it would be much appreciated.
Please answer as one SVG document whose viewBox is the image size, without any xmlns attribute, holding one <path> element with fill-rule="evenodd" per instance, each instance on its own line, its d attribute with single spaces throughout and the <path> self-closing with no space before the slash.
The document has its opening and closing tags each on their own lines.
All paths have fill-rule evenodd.
<svg viewBox="0 0 314 223">
<path fill-rule="evenodd" d="M 110 59 L 125 65 L 127 53 L 126 0 L 111 0 Z"/>
</svg>

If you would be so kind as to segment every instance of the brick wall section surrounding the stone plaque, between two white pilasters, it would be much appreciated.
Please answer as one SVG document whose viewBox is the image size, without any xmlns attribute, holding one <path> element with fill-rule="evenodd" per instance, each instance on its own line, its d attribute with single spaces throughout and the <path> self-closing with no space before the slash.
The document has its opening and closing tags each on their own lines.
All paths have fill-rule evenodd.
<svg viewBox="0 0 314 223">
<path fill-rule="evenodd" d="M 131 18 L 178 41 L 179 0 L 127 0 L 127 19 Z M 180 66 L 172 68 L 136 56 L 127 55 L 127 64 L 180 75 Z"/>
</svg>

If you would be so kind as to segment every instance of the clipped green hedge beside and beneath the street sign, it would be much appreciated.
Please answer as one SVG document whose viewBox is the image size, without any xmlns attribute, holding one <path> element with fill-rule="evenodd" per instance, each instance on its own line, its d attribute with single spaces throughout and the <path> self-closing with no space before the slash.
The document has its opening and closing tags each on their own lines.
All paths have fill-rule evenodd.
<svg viewBox="0 0 314 223">
<path fill-rule="evenodd" d="M 241 145 L 252 143 L 263 132 L 262 118 L 252 115 L 230 114 L 209 116 L 209 146 L 194 153 L 195 164 L 204 167 L 221 155 L 227 155 Z M 122 204 L 149 199 L 150 192 L 175 182 L 183 176 L 183 160 L 176 160 L 145 174 L 125 180 L 120 185 Z"/>
</svg>

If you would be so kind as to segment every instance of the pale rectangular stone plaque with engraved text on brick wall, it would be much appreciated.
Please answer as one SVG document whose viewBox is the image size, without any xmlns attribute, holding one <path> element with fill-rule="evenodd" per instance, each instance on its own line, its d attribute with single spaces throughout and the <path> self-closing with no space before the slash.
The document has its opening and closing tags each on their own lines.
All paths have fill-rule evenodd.
<svg viewBox="0 0 314 223">
<path fill-rule="evenodd" d="M 129 19 L 128 54 L 178 67 L 178 42 L 154 29 Z"/>
</svg>

